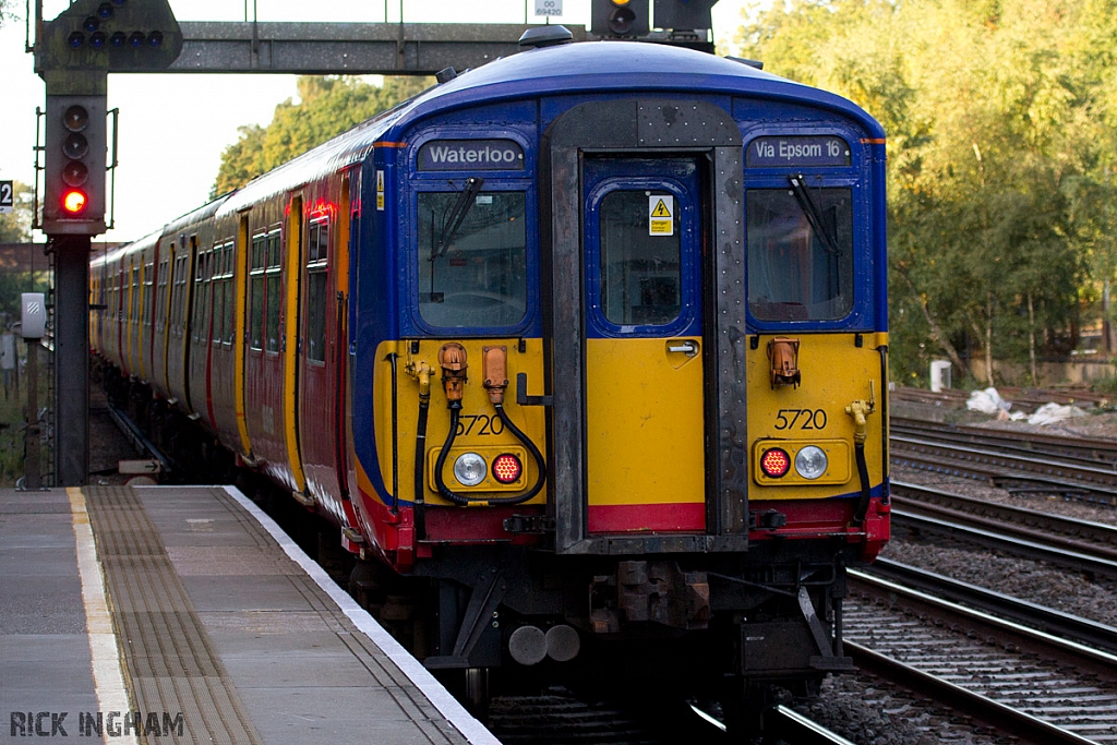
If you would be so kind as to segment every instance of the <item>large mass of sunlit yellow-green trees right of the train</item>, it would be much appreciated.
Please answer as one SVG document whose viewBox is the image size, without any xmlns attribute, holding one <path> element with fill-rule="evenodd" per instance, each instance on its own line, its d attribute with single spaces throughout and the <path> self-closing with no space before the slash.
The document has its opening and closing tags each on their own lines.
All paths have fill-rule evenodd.
<svg viewBox="0 0 1117 745">
<path fill-rule="evenodd" d="M 1117 271 L 1117 0 L 777 6 L 742 28 L 743 56 L 889 135 L 896 380 L 1069 352 Z"/>
</svg>

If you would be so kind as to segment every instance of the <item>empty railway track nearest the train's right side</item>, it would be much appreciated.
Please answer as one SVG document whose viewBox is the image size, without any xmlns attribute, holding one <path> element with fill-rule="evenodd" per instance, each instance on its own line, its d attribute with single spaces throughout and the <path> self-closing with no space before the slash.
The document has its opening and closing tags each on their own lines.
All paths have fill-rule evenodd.
<svg viewBox="0 0 1117 745">
<path fill-rule="evenodd" d="M 1023 743 L 1117 742 L 1117 657 L 851 572 L 847 651 Z"/>
</svg>

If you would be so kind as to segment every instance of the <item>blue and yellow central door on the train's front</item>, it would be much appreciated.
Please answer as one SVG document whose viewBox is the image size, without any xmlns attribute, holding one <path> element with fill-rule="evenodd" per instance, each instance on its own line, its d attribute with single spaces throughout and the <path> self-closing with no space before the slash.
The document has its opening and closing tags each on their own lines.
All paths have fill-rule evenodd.
<svg viewBox="0 0 1117 745">
<path fill-rule="evenodd" d="M 706 528 L 698 173 L 583 160 L 590 533 Z"/>
</svg>

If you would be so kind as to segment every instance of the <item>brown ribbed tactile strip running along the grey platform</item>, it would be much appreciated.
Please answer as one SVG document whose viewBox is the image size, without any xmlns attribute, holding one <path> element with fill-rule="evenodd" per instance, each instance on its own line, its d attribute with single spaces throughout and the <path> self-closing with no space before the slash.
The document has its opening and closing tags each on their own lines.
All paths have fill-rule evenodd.
<svg viewBox="0 0 1117 745">
<path fill-rule="evenodd" d="M 146 742 L 261 743 L 140 498 L 130 487 L 84 491 L 135 710 L 182 714 L 181 736 L 161 728 Z"/>
</svg>

